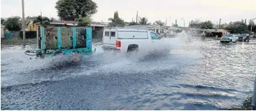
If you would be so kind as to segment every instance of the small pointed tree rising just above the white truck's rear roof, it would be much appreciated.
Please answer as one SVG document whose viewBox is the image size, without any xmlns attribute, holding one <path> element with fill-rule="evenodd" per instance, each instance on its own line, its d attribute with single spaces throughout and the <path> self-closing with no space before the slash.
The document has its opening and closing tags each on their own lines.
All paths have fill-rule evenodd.
<svg viewBox="0 0 256 111">
<path fill-rule="evenodd" d="M 118 11 L 115 11 L 113 18 L 109 18 L 108 21 L 110 21 L 108 26 L 118 26 L 118 27 L 125 26 L 125 21 L 119 18 Z"/>
</svg>

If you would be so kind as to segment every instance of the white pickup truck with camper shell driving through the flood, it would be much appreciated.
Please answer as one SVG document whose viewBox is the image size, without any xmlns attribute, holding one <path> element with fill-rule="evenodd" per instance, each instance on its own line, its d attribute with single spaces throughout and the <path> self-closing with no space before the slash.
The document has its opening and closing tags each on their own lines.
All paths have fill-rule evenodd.
<svg viewBox="0 0 256 111">
<path fill-rule="evenodd" d="M 118 52 L 170 51 L 158 34 L 147 29 L 104 29 L 103 49 Z M 167 49 L 167 50 L 166 50 Z"/>
</svg>

